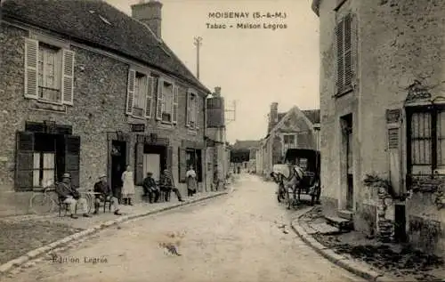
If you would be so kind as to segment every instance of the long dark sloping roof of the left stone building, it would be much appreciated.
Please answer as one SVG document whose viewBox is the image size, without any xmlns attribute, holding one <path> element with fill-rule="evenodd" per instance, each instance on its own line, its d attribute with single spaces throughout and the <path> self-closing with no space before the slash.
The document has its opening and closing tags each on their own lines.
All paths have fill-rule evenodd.
<svg viewBox="0 0 445 282">
<path fill-rule="evenodd" d="M 141 61 L 166 74 L 180 77 L 205 93 L 211 93 L 146 25 L 106 2 L 93 0 L 3 2 L 4 19 L 18 20 L 67 36 L 78 43 L 93 45 Z"/>
</svg>

